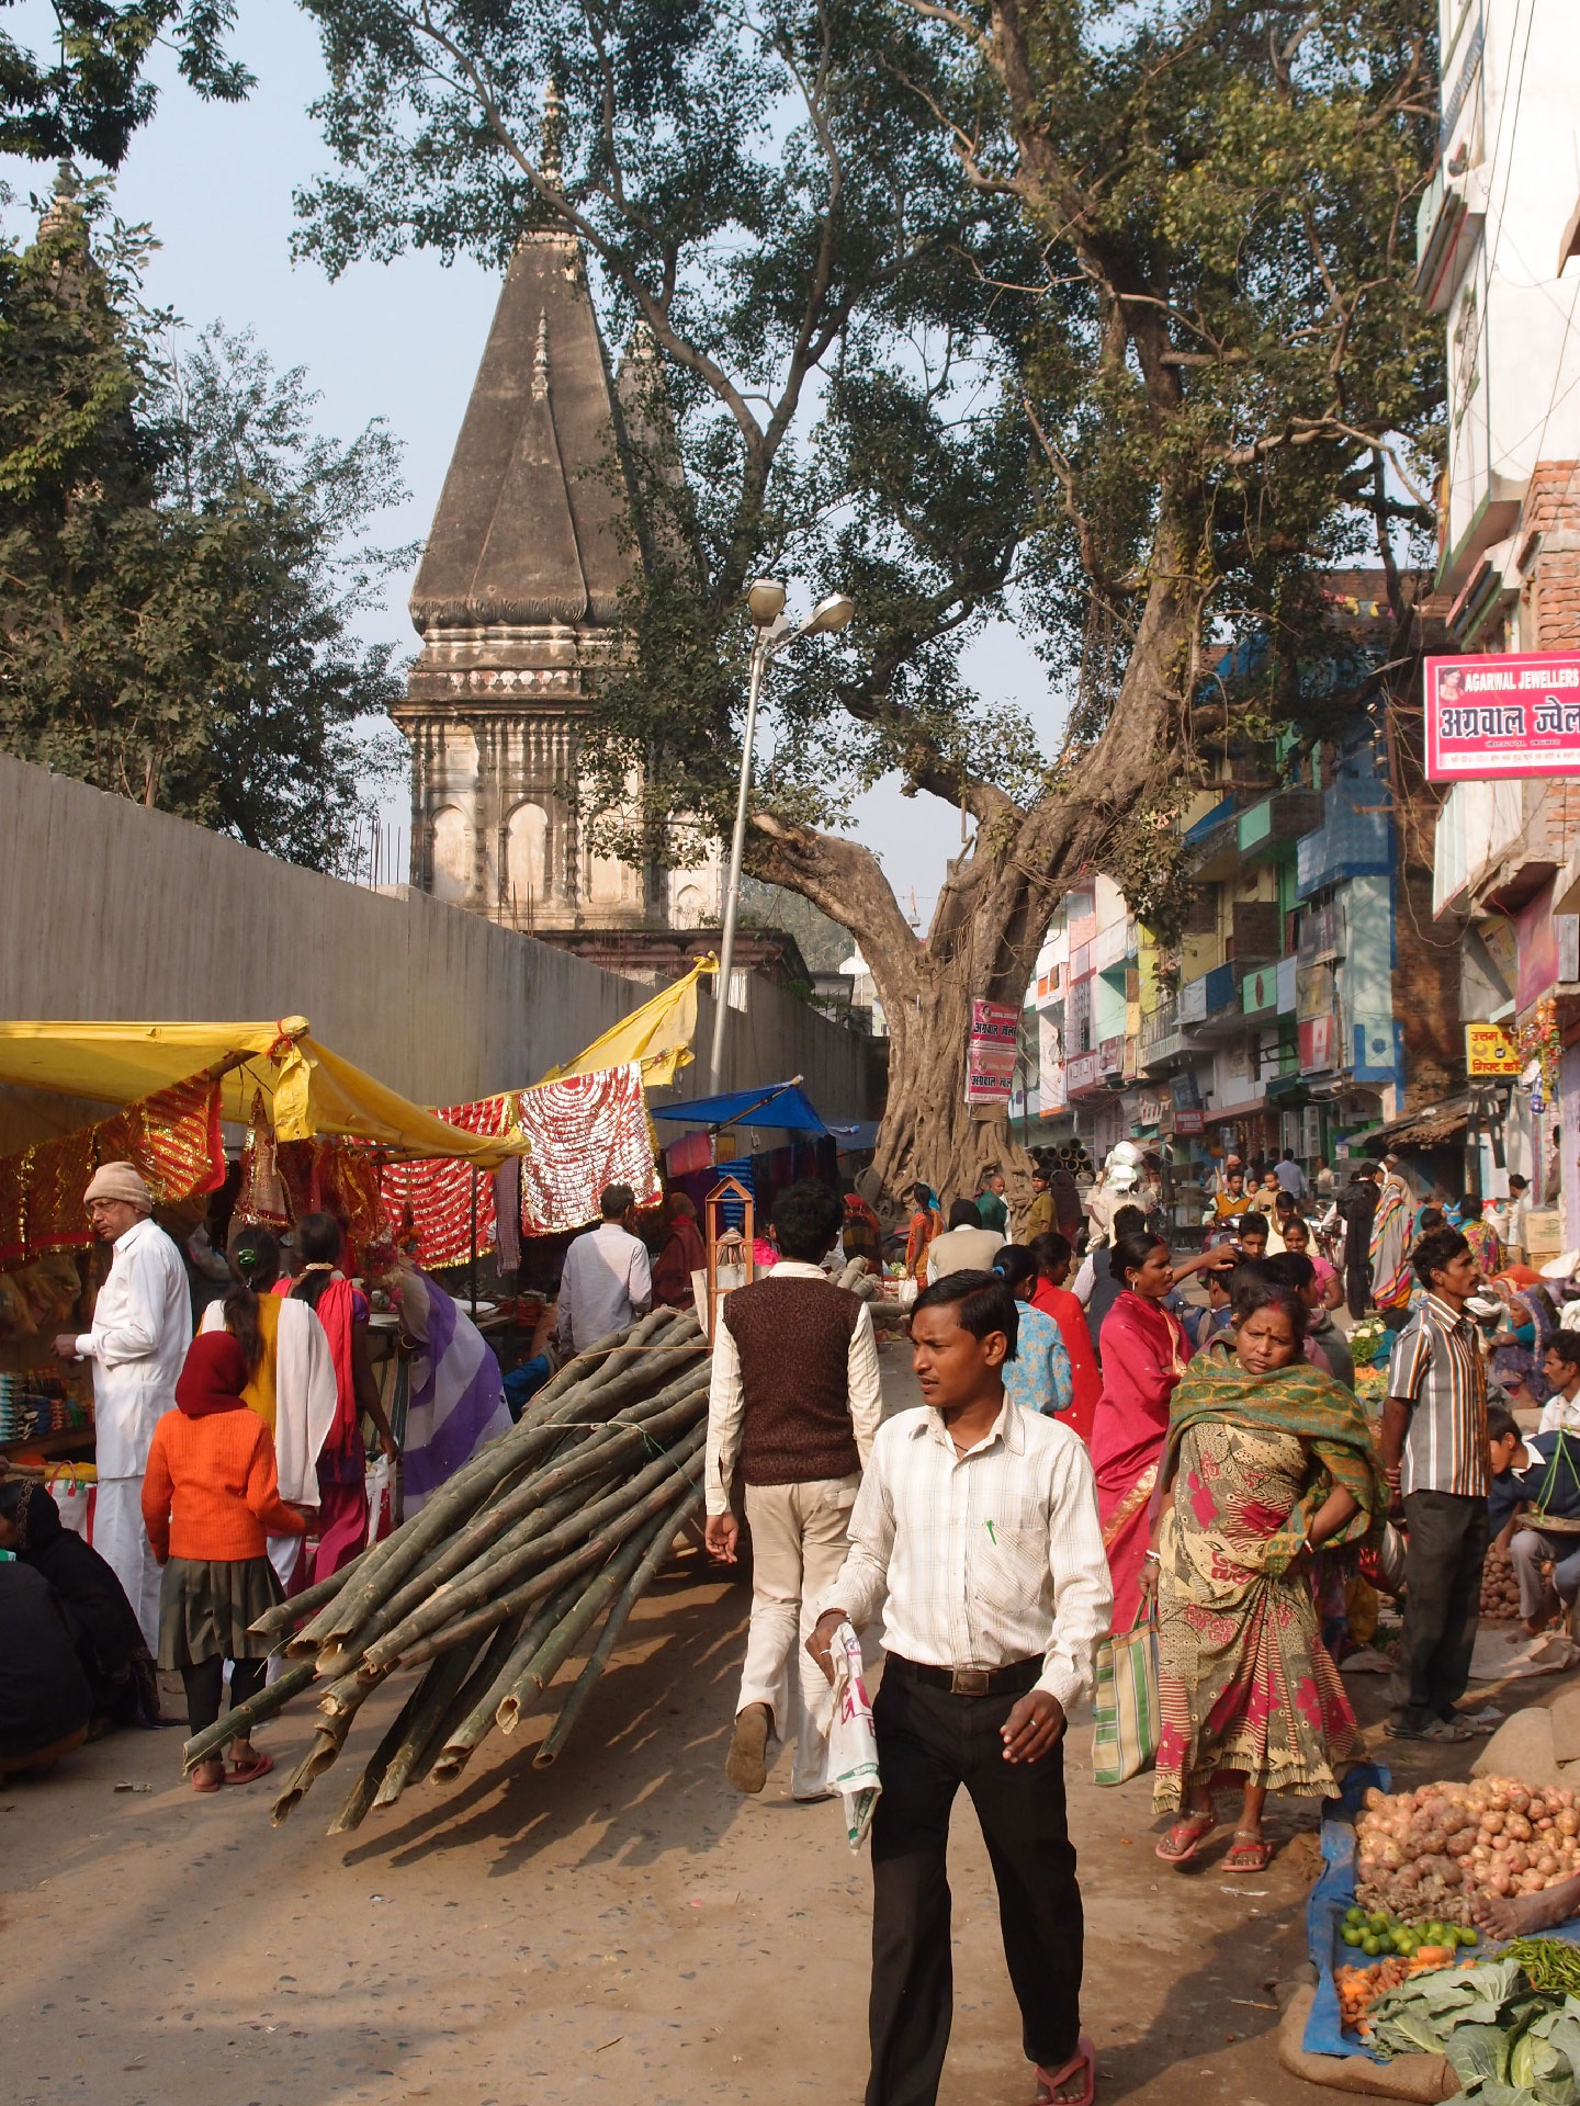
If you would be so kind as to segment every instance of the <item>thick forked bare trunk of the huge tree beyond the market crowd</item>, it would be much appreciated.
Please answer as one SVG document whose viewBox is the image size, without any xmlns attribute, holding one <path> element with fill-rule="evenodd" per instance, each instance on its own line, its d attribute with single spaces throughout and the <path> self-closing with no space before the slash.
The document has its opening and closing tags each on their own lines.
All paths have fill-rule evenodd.
<svg viewBox="0 0 1580 2106">
<path fill-rule="evenodd" d="M 1011 1198 L 1026 1158 L 1005 1110 L 965 1101 L 973 998 L 1020 1009 L 1060 897 L 1104 868 L 1125 828 L 1171 826 L 1167 788 L 1184 767 L 1180 727 L 1201 602 L 1184 537 L 1159 531 L 1135 647 L 1112 718 L 1068 788 L 1028 811 L 990 783 L 916 775 L 977 821 L 950 866 L 927 937 L 914 935 L 870 849 L 771 813 L 754 817 L 754 872 L 811 899 L 862 946 L 889 1024 L 889 1104 L 876 1167 L 891 1198 L 916 1177 L 948 1203 L 999 1163 Z"/>
</svg>

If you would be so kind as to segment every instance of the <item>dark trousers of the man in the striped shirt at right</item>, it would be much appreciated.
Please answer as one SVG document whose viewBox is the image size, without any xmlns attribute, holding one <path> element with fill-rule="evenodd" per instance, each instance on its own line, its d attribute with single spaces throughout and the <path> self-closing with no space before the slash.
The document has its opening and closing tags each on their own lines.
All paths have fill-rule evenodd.
<svg viewBox="0 0 1580 2106">
<path fill-rule="evenodd" d="M 1470 1681 L 1487 1558 L 1487 1502 L 1458 1491 L 1405 1495 L 1405 1630 L 1393 1676 L 1395 1725 L 1451 1718 Z"/>
</svg>

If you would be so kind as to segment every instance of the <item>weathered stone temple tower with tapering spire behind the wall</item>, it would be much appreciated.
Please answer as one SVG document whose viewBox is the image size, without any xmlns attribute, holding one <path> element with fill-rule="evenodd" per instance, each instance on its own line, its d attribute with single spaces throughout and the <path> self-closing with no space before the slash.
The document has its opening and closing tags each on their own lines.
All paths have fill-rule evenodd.
<svg viewBox="0 0 1580 2106">
<path fill-rule="evenodd" d="M 428 535 L 411 741 L 411 882 L 516 929 L 716 925 L 716 857 L 636 870 L 579 836 L 588 697 L 630 575 L 611 371 L 571 234 L 522 234 Z"/>
</svg>

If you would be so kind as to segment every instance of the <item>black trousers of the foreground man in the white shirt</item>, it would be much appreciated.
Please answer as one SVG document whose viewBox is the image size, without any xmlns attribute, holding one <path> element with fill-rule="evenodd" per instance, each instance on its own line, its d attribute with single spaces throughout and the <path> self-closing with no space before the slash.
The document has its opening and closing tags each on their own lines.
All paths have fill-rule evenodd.
<svg viewBox="0 0 1580 2106">
<path fill-rule="evenodd" d="M 895 1670 L 902 1672 L 895 1672 Z M 872 1820 L 872 2077 L 866 2106 L 933 2106 L 954 1971 L 944 1866 L 961 1786 L 999 1885 L 1009 1982 L 1030 2062 L 1060 2068 L 1081 2034 L 1081 1889 L 1064 1815 L 1064 1746 L 1005 1763 L 1015 1695 L 956 1697 L 891 1660 L 872 1704 L 883 1794 Z"/>
</svg>

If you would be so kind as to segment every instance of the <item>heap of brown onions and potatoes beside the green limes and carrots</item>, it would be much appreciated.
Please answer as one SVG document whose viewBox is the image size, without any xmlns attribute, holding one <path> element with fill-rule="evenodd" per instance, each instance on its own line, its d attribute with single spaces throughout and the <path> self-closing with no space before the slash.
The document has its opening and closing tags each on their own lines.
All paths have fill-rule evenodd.
<svg viewBox="0 0 1580 2106">
<path fill-rule="evenodd" d="M 1540 1893 L 1580 1872 L 1580 1792 L 1517 1777 L 1376 1788 L 1355 1824 L 1355 1898 L 1405 1923 L 1470 1923 L 1475 1895 Z"/>
</svg>

